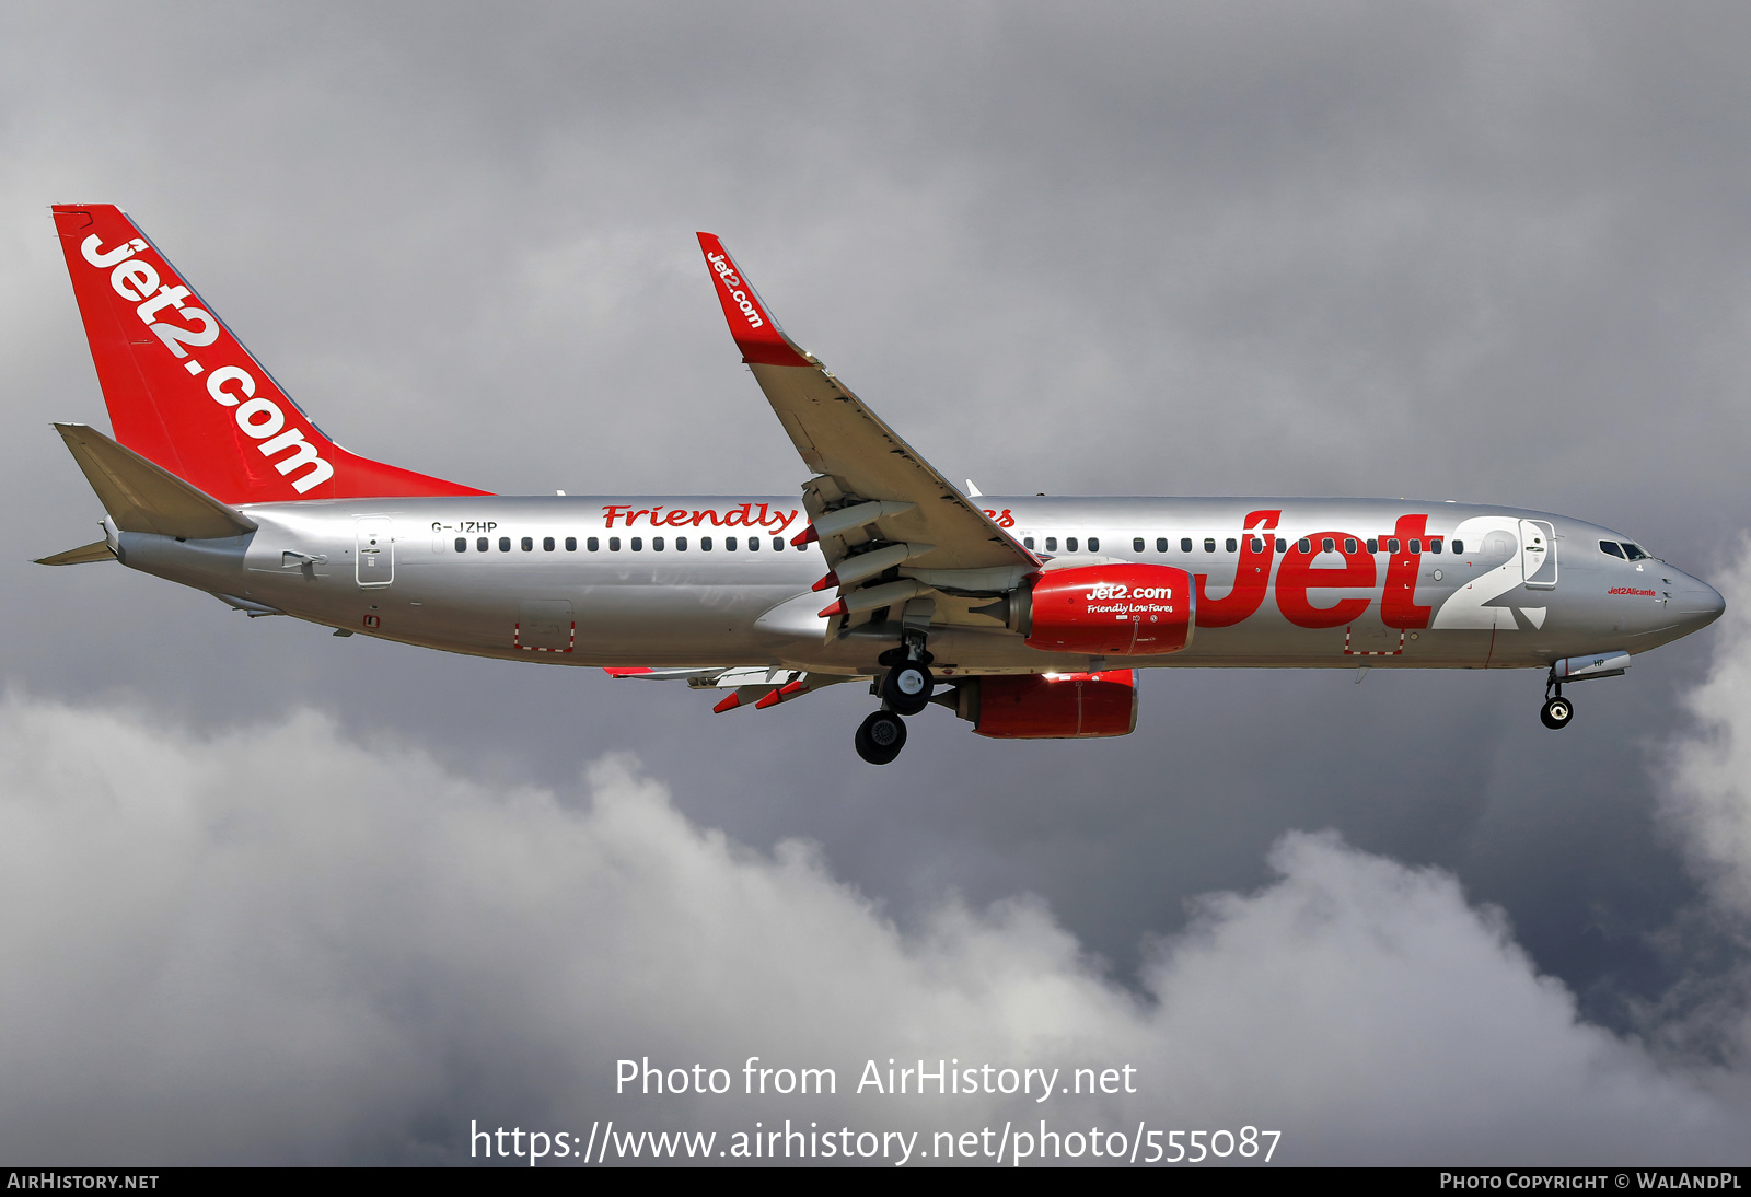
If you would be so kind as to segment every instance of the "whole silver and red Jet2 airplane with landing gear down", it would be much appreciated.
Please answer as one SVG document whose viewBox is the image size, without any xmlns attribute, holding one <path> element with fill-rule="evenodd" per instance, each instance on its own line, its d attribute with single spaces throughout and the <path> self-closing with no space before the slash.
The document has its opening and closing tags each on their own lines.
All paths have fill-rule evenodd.
<svg viewBox="0 0 1751 1197">
<path fill-rule="evenodd" d="M 935 702 L 989 737 L 1124 735 L 1135 668 L 1546 670 L 1562 684 L 1721 614 L 1625 536 L 1543 511 L 1383 499 L 965 492 L 784 336 L 700 233 L 800 495 L 492 495 L 355 457 L 110 205 L 54 224 L 116 439 L 56 425 L 119 560 L 250 616 L 679 679 L 718 710 L 861 681 L 898 754 Z"/>
</svg>

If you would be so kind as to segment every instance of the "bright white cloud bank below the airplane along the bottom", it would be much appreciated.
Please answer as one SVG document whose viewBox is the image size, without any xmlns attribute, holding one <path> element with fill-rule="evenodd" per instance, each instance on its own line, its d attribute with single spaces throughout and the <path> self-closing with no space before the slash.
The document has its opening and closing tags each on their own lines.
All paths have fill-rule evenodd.
<svg viewBox="0 0 1751 1197">
<path fill-rule="evenodd" d="M 809 847 L 753 852 L 630 760 L 587 800 L 313 714 L 191 735 L 0 709 L 0 1153 L 440 1160 L 471 1118 L 1282 1129 L 1292 1162 L 1728 1157 L 1739 1078 L 1578 1020 L 1455 880 L 1290 835 L 1143 994 L 1042 903 L 902 929 Z M 839 1069 L 823 1099 L 634 1099 L 620 1057 Z M 849 1096 L 865 1059 L 1136 1068 L 1136 1096 Z M 1063 1076 L 1068 1082 L 1068 1071 Z M 1063 1083 L 1061 1082 L 1061 1083 Z"/>
</svg>

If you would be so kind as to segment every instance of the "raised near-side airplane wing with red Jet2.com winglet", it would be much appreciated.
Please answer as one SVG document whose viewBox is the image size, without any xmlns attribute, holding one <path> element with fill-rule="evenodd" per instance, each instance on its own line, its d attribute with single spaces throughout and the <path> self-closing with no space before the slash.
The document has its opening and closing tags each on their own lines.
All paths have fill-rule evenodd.
<svg viewBox="0 0 1751 1197">
<path fill-rule="evenodd" d="M 1038 569 L 1033 553 L 956 490 L 812 354 L 784 336 L 723 242 L 700 233 L 699 245 L 742 360 L 804 466 L 816 472 L 802 488 L 812 520 L 802 536 L 821 541 L 826 564 L 837 574 L 823 581 L 837 584 L 840 598 L 851 604 L 839 614 L 856 614 L 853 592 L 860 588 L 867 593 L 898 586 L 907 595 L 895 590 L 890 597 L 904 604 L 905 597 L 928 590 L 907 581 L 918 574 L 940 583 L 937 570 L 981 570 L 982 586 L 968 586 L 977 590 L 989 588 L 993 578 L 1019 579 Z M 884 555 L 881 569 L 858 572 L 854 558 L 877 551 Z M 890 570 L 898 570 L 902 581 L 886 581 L 883 576 L 891 578 Z"/>
</svg>

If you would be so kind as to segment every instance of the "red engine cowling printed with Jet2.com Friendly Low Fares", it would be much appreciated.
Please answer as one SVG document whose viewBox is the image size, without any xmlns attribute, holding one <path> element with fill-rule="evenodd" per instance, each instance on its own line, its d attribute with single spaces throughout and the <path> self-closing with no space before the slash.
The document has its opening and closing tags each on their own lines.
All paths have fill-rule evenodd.
<svg viewBox="0 0 1751 1197">
<path fill-rule="evenodd" d="M 1049 569 L 1028 600 L 1028 644 L 1051 653 L 1149 656 L 1192 637 L 1192 578 L 1171 565 Z"/>
</svg>

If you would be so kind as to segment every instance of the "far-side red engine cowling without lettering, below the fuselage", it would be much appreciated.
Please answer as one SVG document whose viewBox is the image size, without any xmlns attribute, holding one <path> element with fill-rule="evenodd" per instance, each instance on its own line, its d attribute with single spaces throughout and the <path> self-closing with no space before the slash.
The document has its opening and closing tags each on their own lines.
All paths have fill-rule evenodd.
<svg viewBox="0 0 1751 1197">
<path fill-rule="evenodd" d="M 968 677 L 954 712 L 995 740 L 1079 740 L 1136 728 L 1136 670 Z"/>
</svg>

